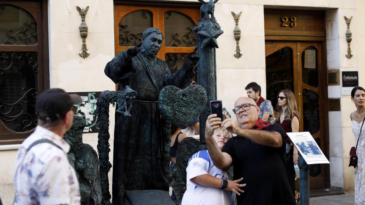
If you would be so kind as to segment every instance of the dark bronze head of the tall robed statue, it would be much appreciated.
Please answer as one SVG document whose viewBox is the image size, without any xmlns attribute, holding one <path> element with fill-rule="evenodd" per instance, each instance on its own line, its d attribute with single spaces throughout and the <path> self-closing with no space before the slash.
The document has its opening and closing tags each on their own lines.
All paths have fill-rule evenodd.
<svg viewBox="0 0 365 205">
<path fill-rule="evenodd" d="M 143 31 L 142 46 L 152 56 L 157 55 L 160 51 L 162 40 L 164 40 L 164 35 L 158 28 L 151 27 Z"/>
</svg>

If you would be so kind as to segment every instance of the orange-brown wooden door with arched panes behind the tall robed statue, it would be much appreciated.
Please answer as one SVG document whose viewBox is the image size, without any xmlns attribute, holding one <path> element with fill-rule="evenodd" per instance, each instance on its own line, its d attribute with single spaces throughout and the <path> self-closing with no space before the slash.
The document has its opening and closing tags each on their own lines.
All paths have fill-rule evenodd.
<svg viewBox="0 0 365 205">
<path fill-rule="evenodd" d="M 200 11 L 196 7 L 115 5 L 115 55 L 138 45 L 143 31 L 155 27 L 165 36 L 157 57 L 165 60 L 174 73 L 195 49 L 196 37 L 192 28 L 197 25 L 199 17 Z M 197 74 L 189 83 L 193 81 L 197 82 Z"/>
</svg>

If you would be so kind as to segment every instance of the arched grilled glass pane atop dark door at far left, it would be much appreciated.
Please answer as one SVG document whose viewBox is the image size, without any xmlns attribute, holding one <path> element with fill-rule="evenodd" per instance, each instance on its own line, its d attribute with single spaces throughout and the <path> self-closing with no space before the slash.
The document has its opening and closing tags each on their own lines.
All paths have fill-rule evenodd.
<svg viewBox="0 0 365 205">
<path fill-rule="evenodd" d="M 0 45 L 36 45 L 37 22 L 22 8 L 0 5 Z"/>
</svg>

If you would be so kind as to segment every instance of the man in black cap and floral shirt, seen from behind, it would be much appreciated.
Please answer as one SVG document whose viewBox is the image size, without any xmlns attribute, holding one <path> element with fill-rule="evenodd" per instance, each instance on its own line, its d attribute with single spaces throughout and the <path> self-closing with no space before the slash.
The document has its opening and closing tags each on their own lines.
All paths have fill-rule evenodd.
<svg viewBox="0 0 365 205">
<path fill-rule="evenodd" d="M 80 204 L 80 187 L 62 138 L 72 126 L 81 97 L 50 89 L 37 98 L 38 126 L 16 156 L 14 204 Z"/>
</svg>

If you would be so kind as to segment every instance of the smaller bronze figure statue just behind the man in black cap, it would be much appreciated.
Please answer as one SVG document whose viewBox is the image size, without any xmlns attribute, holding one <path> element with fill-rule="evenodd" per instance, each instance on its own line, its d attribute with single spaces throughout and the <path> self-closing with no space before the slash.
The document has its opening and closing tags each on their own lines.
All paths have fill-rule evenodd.
<svg viewBox="0 0 365 205">
<path fill-rule="evenodd" d="M 65 133 L 64 139 L 70 145 L 68 158 L 80 183 L 81 204 L 100 205 L 99 159 L 92 146 L 82 143 L 84 128 L 85 121 L 82 117 L 74 116 L 72 128 Z"/>
</svg>

